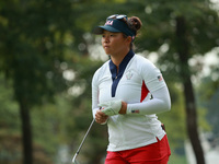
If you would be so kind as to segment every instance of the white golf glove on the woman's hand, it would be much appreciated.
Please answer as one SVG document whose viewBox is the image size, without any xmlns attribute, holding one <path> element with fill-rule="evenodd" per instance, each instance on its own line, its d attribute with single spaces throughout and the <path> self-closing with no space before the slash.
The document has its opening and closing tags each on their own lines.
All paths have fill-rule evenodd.
<svg viewBox="0 0 219 164">
<path fill-rule="evenodd" d="M 122 101 L 111 101 L 99 104 L 100 107 L 102 107 L 101 112 L 104 113 L 107 116 L 114 116 L 118 115 L 120 107 L 122 107 Z"/>
</svg>

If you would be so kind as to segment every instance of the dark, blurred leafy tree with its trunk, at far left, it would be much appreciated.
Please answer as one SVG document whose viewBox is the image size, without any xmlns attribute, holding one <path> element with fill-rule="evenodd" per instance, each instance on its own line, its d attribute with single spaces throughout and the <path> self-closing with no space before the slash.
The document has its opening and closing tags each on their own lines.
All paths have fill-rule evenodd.
<svg viewBox="0 0 219 164">
<path fill-rule="evenodd" d="M 65 33 L 71 30 L 71 2 L 0 2 L 0 70 L 13 83 L 22 120 L 23 163 L 33 163 L 30 109 L 65 89 L 61 62 Z"/>
</svg>

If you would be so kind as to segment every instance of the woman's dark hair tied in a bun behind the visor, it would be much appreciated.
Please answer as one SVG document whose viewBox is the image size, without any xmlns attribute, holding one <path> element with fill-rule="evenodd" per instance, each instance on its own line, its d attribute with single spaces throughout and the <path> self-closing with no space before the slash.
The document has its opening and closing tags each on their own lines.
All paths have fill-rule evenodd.
<svg viewBox="0 0 219 164">
<path fill-rule="evenodd" d="M 142 22 L 140 21 L 140 19 L 137 16 L 128 17 L 127 24 L 128 24 L 128 27 L 132 30 L 137 36 L 139 34 L 138 31 L 142 26 Z M 134 42 L 130 43 L 130 49 L 132 50 L 135 49 Z"/>
</svg>

